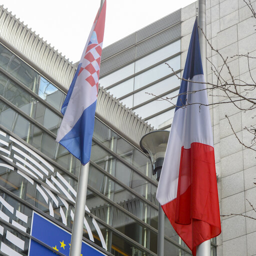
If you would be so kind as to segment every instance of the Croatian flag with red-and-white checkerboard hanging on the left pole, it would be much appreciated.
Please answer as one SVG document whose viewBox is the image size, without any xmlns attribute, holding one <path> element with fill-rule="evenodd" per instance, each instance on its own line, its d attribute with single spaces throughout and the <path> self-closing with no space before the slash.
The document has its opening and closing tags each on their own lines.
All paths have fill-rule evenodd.
<svg viewBox="0 0 256 256">
<path fill-rule="evenodd" d="M 90 159 L 105 12 L 106 1 L 95 17 L 81 60 L 61 107 L 64 116 L 56 137 L 56 141 L 82 164 L 86 164 Z"/>
</svg>

